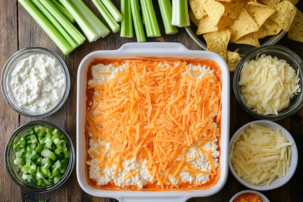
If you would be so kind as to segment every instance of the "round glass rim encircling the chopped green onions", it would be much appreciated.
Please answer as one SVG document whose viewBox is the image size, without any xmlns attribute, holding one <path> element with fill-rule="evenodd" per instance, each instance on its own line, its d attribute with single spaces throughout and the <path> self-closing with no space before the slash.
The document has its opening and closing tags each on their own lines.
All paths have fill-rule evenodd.
<svg viewBox="0 0 303 202">
<path fill-rule="evenodd" d="M 28 186 L 25 186 L 25 185 L 19 183 L 19 181 L 16 180 L 15 175 L 12 174 L 10 169 L 8 168 L 10 166 L 9 159 L 8 159 L 9 154 L 13 150 L 12 146 L 10 148 L 8 148 L 9 144 L 18 135 L 19 131 L 24 130 L 25 128 L 28 128 L 28 127 L 32 127 L 34 125 L 49 125 L 51 127 L 55 127 L 56 129 L 58 129 L 58 131 L 60 131 L 61 134 L 64 136 L 65 141 L 67 142 L 69 150 L 70 150 L 70 160 L 69 160 L 69 163 L 68 163 L 68 167 L 67 167 L 65 173 L 63 174 L 62 178 L 59 180 L 59 183 L 58 184 L 52 184 L 52 185 L 45 186 L 45 187 L 39 187 L 38 189 L 36 188 L 36 187 L 38 187 L 38 185 L 36 185 L 36 187 L 34 187 L 34 186 L 28 187 Z M 11 136 L 8 138 L 8 141 L 5 144 L 4 162 L 5 162 L 6 171 L 8 172 L 9 176 L 11 177 L 11 179 L 14 181 L 15 184 L 17 184 L 22 189 L 24 188 L 24 189 L 29 190 L 29 191 L 43 193 L 43 192 L 48 192 L 48 191 L 52 191 L 52 190 L 57 189 L 62 184 L 64 184 L 65 181 L 68 179 L 68 177 L 72 174 L 72 170 L 73 170 L 73 167 L 74 167 L 74 164 L 75 164 L 75 149 L 74 149 L 74 145 L 72 143 L 72 140 L 70 139 L 68 134 L 61 127 L 58 127 L 57 125 L 55 125 L 53 123 L 50 123 L 48 121 L 30 121 L 30 122 L 27 122 L 27 123 L 19 126 L 17 129 L 15 129 L 15 131 L 12 132 Z"/>
</svg>

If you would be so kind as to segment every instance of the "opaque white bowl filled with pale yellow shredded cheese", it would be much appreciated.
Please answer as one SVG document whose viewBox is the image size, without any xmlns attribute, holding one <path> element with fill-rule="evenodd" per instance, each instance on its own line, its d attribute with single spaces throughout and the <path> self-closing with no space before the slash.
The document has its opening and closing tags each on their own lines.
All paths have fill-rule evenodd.
<svg viewBox="0 0 303 202">
<path fill-rule="evenodd" d="M 244 186 L 272 190 L 295 173 L 298 150 L 291 134 L 271 121 L 242 126 L 229 142 L 229 169 Z"/>
</svg>

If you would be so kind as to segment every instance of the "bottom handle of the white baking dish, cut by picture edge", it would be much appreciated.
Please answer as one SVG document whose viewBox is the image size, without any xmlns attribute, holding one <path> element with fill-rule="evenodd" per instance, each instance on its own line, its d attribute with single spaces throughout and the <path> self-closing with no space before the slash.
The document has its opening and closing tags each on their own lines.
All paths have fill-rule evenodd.
<svg viewBox="0 0 303 202">
<path fill-rule="evenodd" d="M 148 198 L 148 197 L 122 197 L 119 198 L 119 202 L 185 202 L 188 198 L 186 197 L 156 197 L 156 198 Z"/>
</svg>

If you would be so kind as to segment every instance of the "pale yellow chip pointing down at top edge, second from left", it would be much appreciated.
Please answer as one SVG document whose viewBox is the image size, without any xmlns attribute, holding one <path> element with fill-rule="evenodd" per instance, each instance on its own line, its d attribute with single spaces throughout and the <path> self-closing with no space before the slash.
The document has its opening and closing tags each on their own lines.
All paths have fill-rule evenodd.
<svg viewBox="0 0 303 202">
<path fill-rule="evenodd" d="M 215 0 L 201 0 L 200 3 L 211 22 L 216 26 L 224 13 L 224 6 Z"/>
</svg>

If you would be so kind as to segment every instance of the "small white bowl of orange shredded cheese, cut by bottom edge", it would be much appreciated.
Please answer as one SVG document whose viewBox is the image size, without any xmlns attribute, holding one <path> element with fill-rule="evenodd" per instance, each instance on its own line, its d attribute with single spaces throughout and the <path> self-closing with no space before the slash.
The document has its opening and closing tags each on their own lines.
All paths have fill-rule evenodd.
<svg viewBox="0 0 303 202">
<path fill-rule="evenodd" d="M 243 190 L 231 197 L 229 202 L 269 202 L 269 200 L 258 191 Z"/>
</svg>

